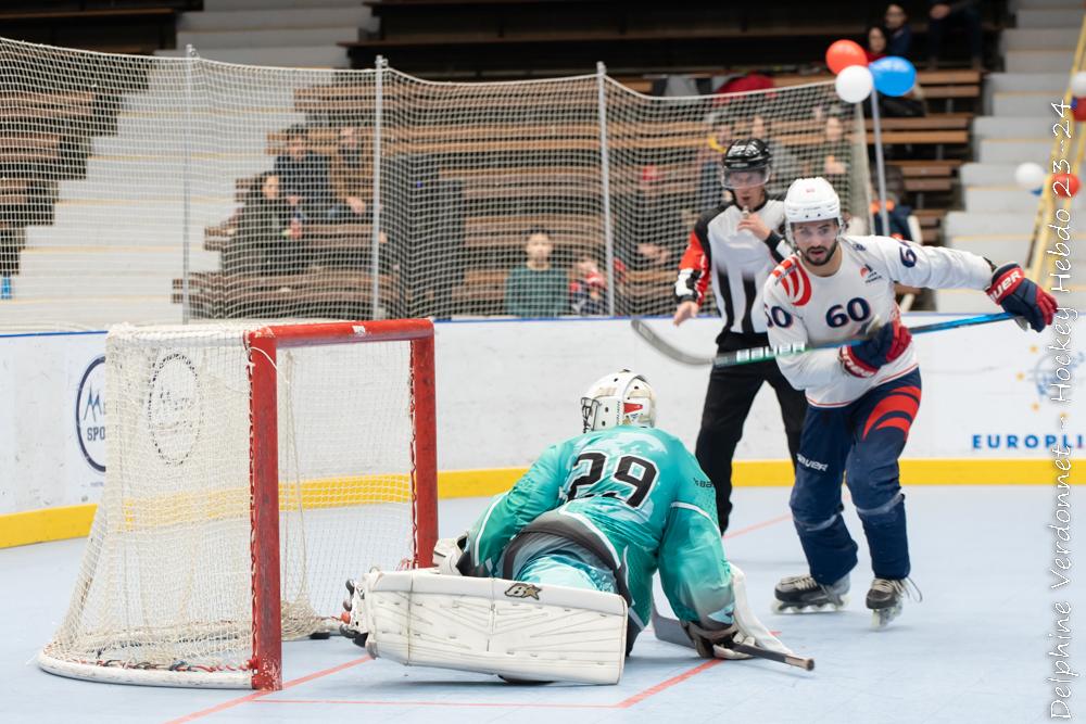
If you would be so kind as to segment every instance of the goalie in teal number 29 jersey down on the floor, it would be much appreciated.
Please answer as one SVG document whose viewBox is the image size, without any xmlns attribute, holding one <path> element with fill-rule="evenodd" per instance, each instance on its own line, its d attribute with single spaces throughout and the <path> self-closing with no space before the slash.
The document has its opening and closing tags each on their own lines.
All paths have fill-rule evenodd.
<svg viewBox="0 0 1086 724">
<path fill-rule="evenodd" d="M 350 583 L 344 634 L 409 665 L 615 684 L 649 621 L 659 569 L 703 657 L 746 658 L 735 643 L 791 653 L 747 607 L 712 484 L 654 428 L 645 379 L 606 376 L 581 412 L 583 434 L 547 448 L 466 535 L 440 542 L 437 569 Z"/>
</svg>

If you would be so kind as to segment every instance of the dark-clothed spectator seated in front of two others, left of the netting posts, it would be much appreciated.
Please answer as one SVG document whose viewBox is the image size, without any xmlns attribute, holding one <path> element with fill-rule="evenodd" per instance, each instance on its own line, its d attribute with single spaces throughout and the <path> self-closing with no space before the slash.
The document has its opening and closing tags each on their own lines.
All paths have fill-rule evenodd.
<svg viewBox="0 0 1086 724">
<path fill-rule="evenodd" d="M 301 271 L 302 233 L 296 211 L 280 193 L 279 177 L 261 174 L 245 194 L 237 231 L 223 251 L 223 271 L 228 276 Z"/>
</svg>

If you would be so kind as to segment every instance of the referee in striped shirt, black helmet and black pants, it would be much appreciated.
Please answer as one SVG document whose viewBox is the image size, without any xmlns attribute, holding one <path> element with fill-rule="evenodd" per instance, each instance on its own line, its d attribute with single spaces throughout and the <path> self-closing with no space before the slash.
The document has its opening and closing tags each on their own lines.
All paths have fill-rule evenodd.
<svg viewBox="0 0 1086 724">
<path fill-rule="evenodd" d="M 744 139 L 728 147 L 721 181 L 731 191 L 732 201 L 702 215 L 680 264 L 674 323 L 697 316 L 711 278 L 717 308 L 724 319 L 724 328 L 717 336 L 719 353 L 769 344 L 761 288 L 773 267 L 792 253 L 783 237 L 784 204 L 766 195 L 771 163 L 769 147 L 760 139 Z M 709 376 L 694 450 L 716 488 L 721 532 L 728 529 L 732 511 L 732 457 L 763 382 L 776 393 L 794 466 L 807 403 L 776 365 L 767 360 L 721 367 Z"/>
</svg>

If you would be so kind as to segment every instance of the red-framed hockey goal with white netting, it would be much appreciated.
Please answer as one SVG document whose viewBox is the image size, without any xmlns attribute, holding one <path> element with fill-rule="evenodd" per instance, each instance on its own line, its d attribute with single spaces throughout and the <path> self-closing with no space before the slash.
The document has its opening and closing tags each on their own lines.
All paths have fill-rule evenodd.
<svg viewBox="0 0 1086 724">
<path fill-rule="evenodd" d="M 105 359 L 105 487 L 47 671 L 280 688 L 345 579 L 430 564 L 430 322 L 122 326 Z"/>
</svg>

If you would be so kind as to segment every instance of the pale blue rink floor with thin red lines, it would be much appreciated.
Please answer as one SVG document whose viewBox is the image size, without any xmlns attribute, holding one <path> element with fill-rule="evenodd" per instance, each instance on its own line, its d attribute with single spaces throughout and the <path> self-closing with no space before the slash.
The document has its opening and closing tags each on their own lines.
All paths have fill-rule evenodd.
<svg viewBox="0 0 1086 724">
<path fill-rule="evenodd" d="M 1053 672 L 1048 652 L 1056 601 L 1072 602 L 1066 651 L 1071 668 L 1086 671 L 1082 563 L 1069 571 L 1071 584 L 1049 588 L 1056 581 L 1048 572 L 1055 538 L 1047 528 L 1053 488 L 909 490 L 913 580 L 924 600 L 908 604 L 877 632 L 863 608 L 871 579 L 866 557 L 853 573 L 846 611 L 769 610 L 776 580 L 805 570 L 787 495 L 784 487 L 738 488 L 725 550 L 746 571 L 762 621 L 817 660 L 811 673 L 768 661 L 703 661 L 647 631 L 618 686 L 516 687 L 481 674 L 406 669 L 369 660 L 340 638 L 286 645 L 287 684 L 269 695 L 77 682 L 46 674 L 31 661 L 72 592 L 84 541 L 66 541 L 0 550 L 0 722 L 1052 721 L 1056 685 L 1046 679 Z M 442 501 L 442 535 L 463 530 L 482 505 Z M 859 534 L 850 510 L 847 520 Z M 1068 546 L 1073 563 L 1083 555 L 1074 523 Z M 1071 713 L 1086 717 L 1086 684 L 1079 678 L 1070 686 Z"/>
</svg>

